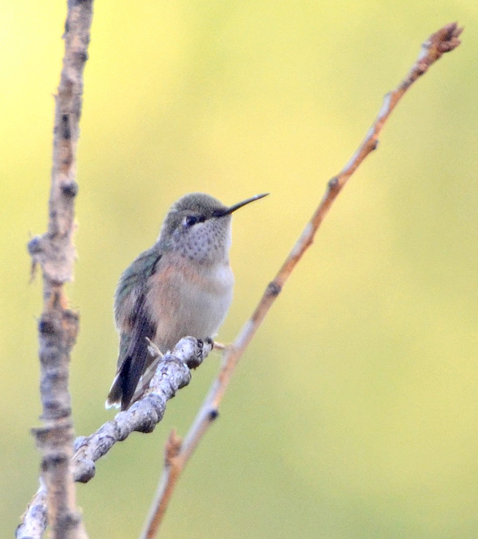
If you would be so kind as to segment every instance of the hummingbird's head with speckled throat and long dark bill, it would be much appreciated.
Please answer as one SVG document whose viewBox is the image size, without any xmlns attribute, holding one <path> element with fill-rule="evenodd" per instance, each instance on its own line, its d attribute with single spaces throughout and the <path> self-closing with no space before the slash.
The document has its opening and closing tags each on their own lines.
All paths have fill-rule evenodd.
<svg viewBox="0 0 478 539">
<path fill-rule="evenodd" d="M 191 193 L 175 202 L 168 212 L 159 242 L 167 250 L 200 262 L 227 260 L 231 244 L 231 213 L 265 195 L 224 206 L 216 198 Z"/>
</svg>

